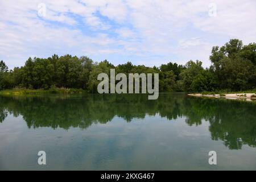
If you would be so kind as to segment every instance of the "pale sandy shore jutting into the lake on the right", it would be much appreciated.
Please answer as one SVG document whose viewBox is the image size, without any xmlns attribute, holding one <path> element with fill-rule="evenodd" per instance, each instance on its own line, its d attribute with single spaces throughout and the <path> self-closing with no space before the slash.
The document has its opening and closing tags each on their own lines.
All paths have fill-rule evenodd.
<svg viewBox="0 0 256 182">
<path fill-rule="evenodd" d="M 227 99 L 234 99 L 234 100 L 246 100 L 246 101 L 256 101 L 256 94 L 255 93 L 230 93 L 221 95 L 220 94 L 188 94 L 188 96 L 195 96 L 195 97 L 211 97 L 211 98 L 227 98 Z M 255 96 L 255 97 L 251 97 Z"/>
</svg>

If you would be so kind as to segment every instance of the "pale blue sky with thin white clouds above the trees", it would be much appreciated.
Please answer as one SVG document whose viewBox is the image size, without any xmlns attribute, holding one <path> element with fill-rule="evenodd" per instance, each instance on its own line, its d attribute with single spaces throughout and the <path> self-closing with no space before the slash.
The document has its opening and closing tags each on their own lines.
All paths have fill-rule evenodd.
<svg viewBox="0 0 256 182">
<path fill-rule="evenodd" d="M 71 54 L 114 65 L 201 60 L 230 39 L 256 42 L 255 0 L 0 0 L 0 60 Z"/>
</svg>

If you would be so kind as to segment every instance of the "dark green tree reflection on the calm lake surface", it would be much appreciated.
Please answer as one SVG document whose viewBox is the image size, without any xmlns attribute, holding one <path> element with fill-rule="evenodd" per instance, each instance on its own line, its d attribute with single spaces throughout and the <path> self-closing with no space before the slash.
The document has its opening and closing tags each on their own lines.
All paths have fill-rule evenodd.
<svg viewBox="0 0 256 182">
<path fill-rule="evenodd" d="M 70 127 L 86 129 L 93 123 L 107 123 L 113 117 L 127 122 L 159 114 L 172 119 L 185 117 L 187 125 L 209 121 L 213 140 L 223 140 L 230 149 L 243 144 L 256 146 L 256 103 L 160 94 L 148 100 L 143 94 L 86 94 L 84 96 L 11 97 L 0 96 L 0 122 L 7 114 L 22 115 L 29 128 Z"/>
</svg>

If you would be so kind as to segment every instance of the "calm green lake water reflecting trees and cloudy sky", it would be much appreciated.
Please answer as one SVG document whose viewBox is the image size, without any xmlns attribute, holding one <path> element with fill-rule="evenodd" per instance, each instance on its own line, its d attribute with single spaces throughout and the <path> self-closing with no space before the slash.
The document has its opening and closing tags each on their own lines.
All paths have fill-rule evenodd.
<svg viewBox="0 0 256 182">
<path fill-rule="evenodd" d="M 46 151 L 45 166 L 38 151 Z M 255 170 L 256 103 L 185 94 L 1 96 L 0 169 Z"/>
</svg>

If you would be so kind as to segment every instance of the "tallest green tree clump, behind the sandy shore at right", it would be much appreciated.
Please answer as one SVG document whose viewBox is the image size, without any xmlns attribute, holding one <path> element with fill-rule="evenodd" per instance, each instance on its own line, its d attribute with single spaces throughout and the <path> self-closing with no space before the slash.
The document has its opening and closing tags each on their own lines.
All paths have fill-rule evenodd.
<svg viewBox="0 0 256 182">
<path fill-rule="evenodd" d="M 217 89 L 244 90 L 255 84 L 254 67 L 256 44 L 243 46 L 242 41 L 231 39 L 220 49 L 213 47 L 210 60 Z"/>
</svg>

